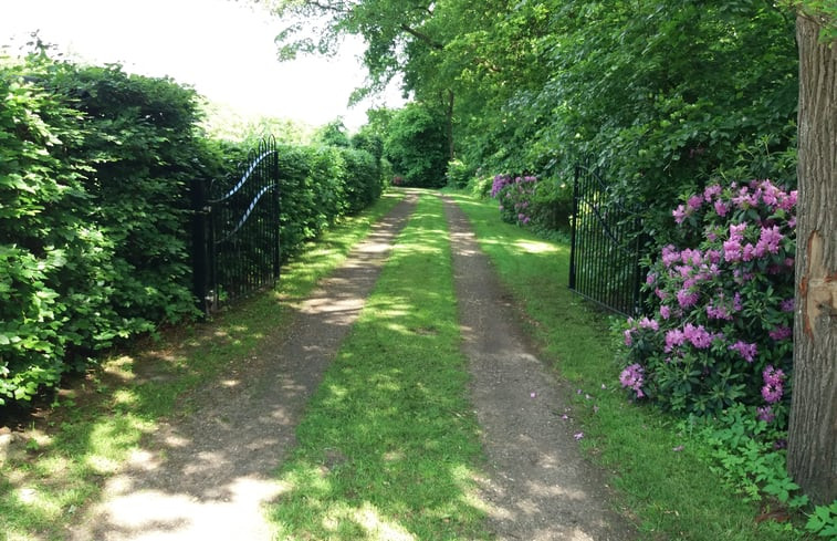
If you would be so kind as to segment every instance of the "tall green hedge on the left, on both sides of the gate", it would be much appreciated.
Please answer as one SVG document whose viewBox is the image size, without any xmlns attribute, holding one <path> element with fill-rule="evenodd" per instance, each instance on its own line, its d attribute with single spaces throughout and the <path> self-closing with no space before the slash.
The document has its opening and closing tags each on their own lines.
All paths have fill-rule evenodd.
<svg viewBox="0 0 837 541">
<path fill-rule="evenodd" d="M 197 97 L 116 65 L 0 58 L 0 406 L 197 315 L 189 183 L 234 175 L 247 155 L 200 134 Z M 283 147 L 285 258 L 372 202 L 379 165 Z"/>
</svg>

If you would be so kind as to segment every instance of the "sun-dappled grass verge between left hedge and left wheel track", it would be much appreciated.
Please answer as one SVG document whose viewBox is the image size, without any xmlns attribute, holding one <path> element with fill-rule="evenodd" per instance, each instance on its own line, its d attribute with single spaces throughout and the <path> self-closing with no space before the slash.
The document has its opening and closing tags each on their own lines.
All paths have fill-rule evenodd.
<svg viewBox="0 0 837 541">
<path fill-rule="evenodd" d="M 112 355 L 62 388 L 25 430 L 1 435 L 15 441 L 0 456 L 0 540 L 65 539 L 66 527 L 143 435 L 163 417 L 188 413 L 190 391 L 248 358 L 290 315 L 281 301 L 305 296 L 400 198 L 386 194 L 308 245 L 282 269 L 275 291 Z"/>
</svg>

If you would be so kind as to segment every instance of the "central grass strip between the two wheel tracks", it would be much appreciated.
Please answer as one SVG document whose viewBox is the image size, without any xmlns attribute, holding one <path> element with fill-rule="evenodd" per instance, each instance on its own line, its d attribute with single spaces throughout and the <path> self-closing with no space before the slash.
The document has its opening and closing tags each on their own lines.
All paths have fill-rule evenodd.
<svg viewBox="0 0 837 541">
<path fill-rule="evenodd" d="M 279 539 L 489 537 L 453 294 L 442 204 L 425 195 L 297 428 Z"/>
</svg>

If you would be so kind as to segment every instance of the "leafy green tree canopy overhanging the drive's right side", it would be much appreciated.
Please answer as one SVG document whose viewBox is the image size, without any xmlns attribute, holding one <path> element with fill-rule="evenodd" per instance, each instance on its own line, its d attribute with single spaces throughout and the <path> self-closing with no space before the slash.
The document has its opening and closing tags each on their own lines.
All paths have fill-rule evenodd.
<svg viewBox="0 0 837 541">
<path fill-rule="evenodd" d="M 362 37 L 369 79 L 358 95 L 402 75 L 416 101 L 449 111 L 454 154 L 474 169 L 566 176 L 593 156 L 625 197 L 660 208 L 712 175 L 795 183 L 794 13 L 773 2 L 292 0 L 275 10 L 293 21 L 278 38 L 285 58 Z"/>
</svg>

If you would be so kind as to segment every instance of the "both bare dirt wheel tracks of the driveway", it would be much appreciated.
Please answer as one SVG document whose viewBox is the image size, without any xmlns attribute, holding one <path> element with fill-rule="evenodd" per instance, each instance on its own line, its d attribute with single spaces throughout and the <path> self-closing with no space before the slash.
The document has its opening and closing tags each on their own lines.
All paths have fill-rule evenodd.
<svg viewBox="0 0 837 541">
<path fill-rule="evenodd" d="M 146 441 L 102 502 L 67 533 L 74 541 L 271 539 L 262 507 L 281 492 L 275 469 L 294 445 L 304 406 L 356 320 L 391 243 L 417 199 L 374 229 L 346 263 L 304 302 L 295 319 L 257 353 L 245 374 L 201 393 L 187 419 Z M 600 475 L 565 423 L 566 396 L 514 324 L 468 220 L 446 201 L 451 227 L 463 352 L 490 468 L 481 496 L 502 540 L 627 540 Z"/>
</svg>

